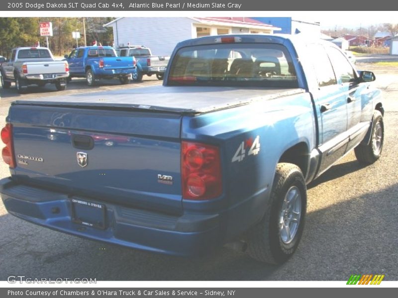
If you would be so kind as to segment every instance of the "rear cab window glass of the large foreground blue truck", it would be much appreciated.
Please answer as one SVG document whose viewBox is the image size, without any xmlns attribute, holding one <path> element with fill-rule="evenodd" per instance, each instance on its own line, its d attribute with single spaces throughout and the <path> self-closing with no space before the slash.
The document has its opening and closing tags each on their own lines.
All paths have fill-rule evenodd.
<svg viewBox="0 0 398 298">
<path fill-rule="evenodd" d="M 228 43 L 180 49 L 168 84 L 296 88 L 298 80 L 284 46 Z"/>
</svg>

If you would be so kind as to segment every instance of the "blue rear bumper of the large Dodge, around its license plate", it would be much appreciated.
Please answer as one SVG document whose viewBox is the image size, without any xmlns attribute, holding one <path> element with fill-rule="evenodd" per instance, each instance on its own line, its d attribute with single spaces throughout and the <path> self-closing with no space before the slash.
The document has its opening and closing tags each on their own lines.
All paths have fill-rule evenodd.
<svg viewBox="0 0 398 298">
<path fill-rule="evenodd" d="M 97 229 L 72 222 L 72 198 L 67 194 L 9 178 L 0 180 L 0 193 L 10 214 L 93 240 L 181 256 L 202 254 L 222 244 L 218 214 L 171 216 L 105 203 L 105 228 Z"/>
</svg>

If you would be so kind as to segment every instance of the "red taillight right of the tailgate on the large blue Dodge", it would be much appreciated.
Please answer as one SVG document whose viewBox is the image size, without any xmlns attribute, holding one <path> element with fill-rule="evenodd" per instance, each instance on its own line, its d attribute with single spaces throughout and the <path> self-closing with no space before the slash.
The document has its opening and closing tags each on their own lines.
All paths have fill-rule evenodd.
<svg viewBox="0 0 398 298">
<path fill-rule="evenodd" d="M 215 146 L 182 142 L 183 199 L 208 200 L 221 195 L 220 152 Z"/>
</svg>

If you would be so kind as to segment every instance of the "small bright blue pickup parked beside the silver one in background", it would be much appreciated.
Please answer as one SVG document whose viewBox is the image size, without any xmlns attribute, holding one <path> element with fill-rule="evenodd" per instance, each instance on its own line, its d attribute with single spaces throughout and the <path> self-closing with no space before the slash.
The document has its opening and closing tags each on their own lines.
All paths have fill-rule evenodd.
<svg viewBox="0 0 398 298">
<path fill-rule="evenodd" d="M 69 79 L 86 77 L 87 84 L 94 86 L 100 78 L 118 78 L 127 84 L 137 77 L 134 57 L 117 57 L 112 47 L 79 47 L 65 55 L 69 64 Z"/>
</svg>

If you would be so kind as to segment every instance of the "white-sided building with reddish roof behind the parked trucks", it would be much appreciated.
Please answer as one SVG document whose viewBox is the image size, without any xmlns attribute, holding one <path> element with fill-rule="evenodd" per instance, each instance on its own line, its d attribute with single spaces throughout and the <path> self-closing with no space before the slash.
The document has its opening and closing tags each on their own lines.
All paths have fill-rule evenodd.
<svg viewBox="0 0 398 298">
<path fill-rule="evenodd" d="M 113 28 L 114 45 L 144 45 L 155 55 L 170 55 L 180 41 L 230 33 L 273 34 L 281 28 L 248 17 L 120 17 L 103 25 Z"/>
</svg>

